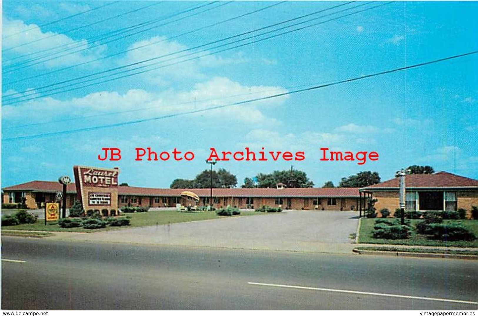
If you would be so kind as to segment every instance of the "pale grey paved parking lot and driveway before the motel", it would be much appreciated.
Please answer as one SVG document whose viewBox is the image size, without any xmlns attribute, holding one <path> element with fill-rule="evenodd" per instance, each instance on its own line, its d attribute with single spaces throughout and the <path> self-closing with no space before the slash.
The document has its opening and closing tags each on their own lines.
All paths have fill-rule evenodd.
<svg viewBox="0 0 478 316">
<path fill-rule="evenodd" d="M 358 212 L 284 211 L 277 214 L 125 228 L 56 233 L 57 240 L 149 245 L 351 253 Z"/>
</svg>

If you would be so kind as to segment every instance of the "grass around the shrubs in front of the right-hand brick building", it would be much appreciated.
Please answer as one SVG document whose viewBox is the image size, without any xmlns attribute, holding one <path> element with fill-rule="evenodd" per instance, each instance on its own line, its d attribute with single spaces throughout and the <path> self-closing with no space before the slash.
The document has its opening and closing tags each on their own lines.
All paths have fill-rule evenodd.
<svg viewBox="0 0 478 316">
<path fill-rule="evenodd" d="M 395 219 L 390 219 L 391 221 Z M 410 220 L 412 227 L 422 221 L 421 219 Z M 461 222 L 463 226 L 478 237 L 478 220 L 444 220 L 447 222 Z M 428 239 L 427 237 L 417 234 L 414 230 L 409 239 L 377 239 L 372 237 L 373 226 L 375 225 L 375 218 L 362 218 L 360 220 L 359 243 L 366 244 L 394 244 L 394 245 L 414 245 L 414 246 L 441 246 L 441 247 L 475 247 L 478 248 L 478 239 L 473 241 L 442 241 Z"/>
</svg>

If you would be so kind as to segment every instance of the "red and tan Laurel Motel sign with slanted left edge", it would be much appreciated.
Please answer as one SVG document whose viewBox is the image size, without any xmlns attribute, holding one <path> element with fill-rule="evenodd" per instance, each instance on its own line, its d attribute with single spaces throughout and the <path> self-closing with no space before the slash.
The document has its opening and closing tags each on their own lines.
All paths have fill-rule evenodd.
<svg viewBox="0 0 478 316">
<path fill-rule="evenodd" d="M 118 175 L 120 169 L 73 167 L 76 194 L 85 211 L 118 210 Z M 101 207 L 101 208 L 100 208 Z"/>
</svg>

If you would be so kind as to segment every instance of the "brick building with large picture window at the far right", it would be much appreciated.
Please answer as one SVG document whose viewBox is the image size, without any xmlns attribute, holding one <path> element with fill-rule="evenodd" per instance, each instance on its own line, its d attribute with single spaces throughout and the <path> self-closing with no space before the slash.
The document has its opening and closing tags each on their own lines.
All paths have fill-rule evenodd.
<svg viewBox="0 0 478 316">
<path fill-rule="evenodd" d="M 391 214 L 399 207 L 400 179 L 394 178 L 359 189 L 364 196 L 377 199 L 375 208 L 383 208 Z M 406 211 L 456 211 L 478 206 L 478 180 L 441 171 L 433 174 L 405 176 Z"/>
</svg>

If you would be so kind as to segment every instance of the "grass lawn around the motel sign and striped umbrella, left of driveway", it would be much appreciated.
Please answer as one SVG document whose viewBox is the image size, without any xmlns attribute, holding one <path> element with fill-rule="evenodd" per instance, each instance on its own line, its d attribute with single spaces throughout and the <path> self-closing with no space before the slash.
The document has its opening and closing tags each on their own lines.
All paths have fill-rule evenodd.
<svg viewBox="0 0 478 316">
<path fill-rule="evenodd" d="M 271 213 L 241 212 L 240 215 L 235 215 L 235 216 L 218 216 L 216 212 L 184 213 L 184 212 L 177 212 L 177 211 L 154 211 L 154 212 L 145 212 L 145 213 L 125 214 L 131 217 L 130 226 L 120 226 L 120 227 L 106 226 L 105 228 L 100 228 L 100 229 L 85 229 L 83 227 L 62 228 L 58 226 L 56 222 L 47 222 L 45 226 L 43 220 L 38 220 L 34 224 L 2 226 L 2 229 L 94 233 L 97 231 L 113 230 L 113 229 L 120 229 L 125 227 L 153 226 L 153 225 L 173 224 L 173 223 L 182 223 L 182 222 L 202 221 L 206 219 L 262 215 L 262 214 L 271 214 Z"/>
</svg>

